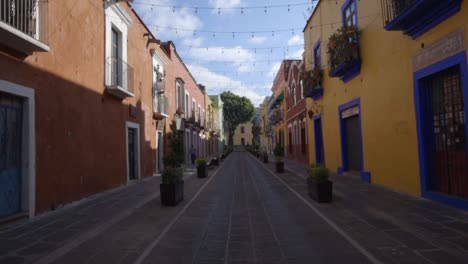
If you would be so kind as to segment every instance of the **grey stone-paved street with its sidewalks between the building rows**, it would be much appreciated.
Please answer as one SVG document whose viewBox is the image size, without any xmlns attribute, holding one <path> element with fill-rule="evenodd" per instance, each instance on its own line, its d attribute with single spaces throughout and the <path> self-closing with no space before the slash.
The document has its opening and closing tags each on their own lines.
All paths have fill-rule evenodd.
<svg viewBox="0 0 468 264">
<path fill-rule="evenodd" d="M 160 205 L 159 178 L 153 177 L 2 227 L 0 263 L 466 263 L 466 251 L 442 250 L 443 237 L 466 238 L 455 224 L 436 230 L 440 219 L 426 221 L 439 237 L 424 241 L 376 219 L 369 208 L 378 201 L 343 210 L 353 194 L 341 193 L 339 184 L 334 203 L 313 202 L 300 174 L 278 176 L 273 165 L 234 152 L 210 177 L 186 176 L 185 200 L 174 208 Z M 360 184 L 361 193 L 376 188 Z M 404 208 L 411 205 L 419 202 Z M 357 214 L 366 207 L 364 221 Z M 443 212 L 452 217 L 448 225 L 466 218 L 456 209 Z"/>
</svg>

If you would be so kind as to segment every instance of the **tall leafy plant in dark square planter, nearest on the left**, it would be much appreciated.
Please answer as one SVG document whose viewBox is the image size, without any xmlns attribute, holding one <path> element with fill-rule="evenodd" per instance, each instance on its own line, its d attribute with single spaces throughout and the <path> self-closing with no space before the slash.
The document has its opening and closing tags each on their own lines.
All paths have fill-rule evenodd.
<svg viewBox="0 0 468 264">
<path fill-rule="evenodd" d="M 168 134 L 171 152 L 163 158 L 164 171 L 162 183 L 159 185 L 161 203 L 166 206 L 176 206 L 184 199 L 184 134 L 177 130 L 175 121 L 171 124 L 172 132 Z"/>
</svg>

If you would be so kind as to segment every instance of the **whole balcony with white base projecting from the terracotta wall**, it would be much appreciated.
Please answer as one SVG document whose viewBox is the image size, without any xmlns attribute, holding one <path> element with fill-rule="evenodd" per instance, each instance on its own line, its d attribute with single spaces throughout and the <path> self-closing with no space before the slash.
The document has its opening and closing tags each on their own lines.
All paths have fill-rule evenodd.
<svg viewBox="0 0 468 264">
<path fill-rule="evenodd" d="M 117 57 L 109 57 L 106 61 L 107 91 L 120 98 L 133 97 L 133 68 Z"/>
</svg>

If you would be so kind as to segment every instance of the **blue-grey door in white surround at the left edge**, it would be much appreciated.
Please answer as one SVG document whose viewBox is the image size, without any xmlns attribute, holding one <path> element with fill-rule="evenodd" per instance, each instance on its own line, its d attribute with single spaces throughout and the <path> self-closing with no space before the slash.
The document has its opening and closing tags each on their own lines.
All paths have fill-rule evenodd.
<svg viewBox="0 0 468 264">
<path fill-rule="evenodd" d="M 0 93 L 0 217 L 21 210 L 22 101 Z"/>
</svg>

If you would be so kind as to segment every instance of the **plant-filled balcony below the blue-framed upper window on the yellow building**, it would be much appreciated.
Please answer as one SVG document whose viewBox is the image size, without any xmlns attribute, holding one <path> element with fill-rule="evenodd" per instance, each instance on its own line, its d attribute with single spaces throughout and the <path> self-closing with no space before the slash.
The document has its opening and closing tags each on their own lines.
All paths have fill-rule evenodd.
<svg viewBox="0 0 468 264">
<path fill-rule="evenodd" d="M 354 27 L 341 28 L 328 42 L 330 77 L 339 77 L 347 82 L 361 72 L 359 30 Z"/>
</svg>

